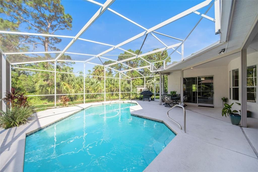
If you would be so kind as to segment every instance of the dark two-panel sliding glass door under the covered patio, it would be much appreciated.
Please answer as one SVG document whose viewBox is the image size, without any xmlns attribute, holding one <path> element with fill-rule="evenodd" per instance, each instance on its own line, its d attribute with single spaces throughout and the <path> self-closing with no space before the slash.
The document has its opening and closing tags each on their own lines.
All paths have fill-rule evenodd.
<svg viewBox="0 0 258 172">
<path fill-rule="evenodd" d="M 213 105 L 213 76 L 184 78 L 183 91 L 185 103 Z"/>
</svg>

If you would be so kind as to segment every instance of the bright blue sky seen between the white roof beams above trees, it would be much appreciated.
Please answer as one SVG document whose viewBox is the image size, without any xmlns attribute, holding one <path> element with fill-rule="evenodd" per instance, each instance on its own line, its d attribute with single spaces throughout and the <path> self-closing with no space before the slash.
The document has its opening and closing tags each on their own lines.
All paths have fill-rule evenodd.
<svg viewBox="0 0 258 172">
<path fill-rule="evenodd" d="M 98 2 L 103 4 L 105 1 L 98 0 Z M 110 6 L 110 8 L 148 29 L 201 2 L 203 1 L 116 0 Z M 81 0 L 66 0 L 61 1 L 61 3 L 65 7 L 65 12 L 72 16 L 73 21 L 71 30 L 58 31 L 55 33 L 57 35 L 75 36 L 78 31 L 86 24 L 86 22 L 92 17 L 92 15 L 99 9 L 98 5 Z M 199 10 L 199 12 L 204 13 L 207 9 L 208 6 Z M 207 15 L 214 18 L 214 6 L 209 10 Z M 200 16 L 197 14 L 190 14 L 180 20 L 164 26 L 163 28 L 158 29 L 157 32 L 184 39 L 199 19 Z M 20 28 L 20 31 L 27 32 L 27 30 L 24 28 Z M 142 28 L 107 10 L 94 22 L 90 28 L 88 28 L 88 30 L 86 30 L 81 38 L 116 45 L 143 31 L 144 30 Z M 179 42 L 162 35 L 156 34 L 156 36 L 167 45 L 172 45 Z M 140 49 L 143 39 L 144 37 L 141 37 L 131 43 L 123 45 L 122 48 L 126 50 Z M 71 39 L 69 38 L 63 38 L 63 41 L 56 45 L 56 47 L 62 50 L 70 40 Z M 214 22 L 203 19 L 184 44 L 185 57 L 188 57 L 192 53 L 203 49 L 218 40 L 219 35 L 215 35 Z M 155 48 L 163 47 L 163 44 L 158 42 L 152 35 L 149 34 L 145 44 L 143 45 L 142 52 L 145 53 Z M 69 48 L 68 52 L 98 54 L 109 48 L 110 46 L 77 40 L 76 43 Z M 43 47 L 39 46 L 34 51 L 42 50 L 44 50 Z M 181 48 L 178 50 L 181 51 Z M 171 52 L 171 50 L 169 50 L 169 52 Z M 123 51 L 116 49 L 112 52 L 109 52 L 108 54 L 116 55 L 120 53 L 123 53 Z M 73 60 L 86 60 L 87 58 L 91 57 L 71 54 L 69 55 Z M 116 60 L 117 56 L 110 56 L 108 58 Z M 171 56 L 172 61 L 179 61 L 180 59 L 181 56 L 178 53 L 173 53 Z M 101 64 L 98 59 L 95 59 L 92 62 Z M 74 68 L 74 72 L 80 71 L 83 68 L 83 64 L 78 63 L 74 65 Z M 92 65 L 88 65 L 87 68 L 92 68 Z"/>
</svg>

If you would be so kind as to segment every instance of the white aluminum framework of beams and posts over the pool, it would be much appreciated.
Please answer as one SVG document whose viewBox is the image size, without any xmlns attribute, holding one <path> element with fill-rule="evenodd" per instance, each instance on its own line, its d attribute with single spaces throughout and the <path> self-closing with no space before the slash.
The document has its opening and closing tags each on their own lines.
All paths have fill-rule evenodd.
<svg viewBox="0 0 258 172">
<path fill-rule="evenodd" d="M 177 15 L 175 15 L 174 17 L 171 17 L 169 19 L 167 19 L 166 21 L 164 22 L 161 22 L 160 24 L 154 26 L 154 27 L 151 27 L 149 29 L 137 24 L 136 22 L 130 20 L 129 18 L 125 17 L 124 15 L 112 10 L 109 8 L 109 6 L 115 1 L 115 0 L 107 0 L 104 4 L 101 4 L 99 2 L 96 2 L 96 1 L 93 1 L 93 0 L 86 0 L 90 3 L 93 3 L 93 4 L 96 4 L 98 6 L 100 6 L 99 10 L 92 16 L 92 18 L 84 25 L 84 27 L 75 35 L 75 36 L 66 36 L 66 35 L 51 35 L 51 34 L 38 34 L 38 33 L 25 33 L 25 32 L 12 32 L 12 31 L 0 31 L 0 34 L 18 34 L 18 35 L 37 35 L 37 36 L 47 36 L 47 37 L 63 37 L 63 38 L 72 38 L 72 40 L 69 42 L 69 44 L 62 50 L 62 51 L 49 51 L 49 52 L 10 52 L 10 53 L 4 53 L 3 52 L 3 55 L 6 56 L 6 60 L 7 61 L 10 61 L 8 59 L 8 56 L 9 55 L 12 55 L 12 54 L 36 54 L 36 53 L 60 53 L 57 58 L 55 58 L 54 60 L 41 60 L 41 61 L 31 61 L 31 62 L 16 62 L 16 63 L 10 63 L 11 65 L 18 65 L 18 64 L 29 64 L 29 63 L 37 63 L 37 62 L 49 62 L 49 61 L 54 61 L 54 71 L 47 71 L 47 70 L 40 70 L 40 69 L 31 69 L 31 68 L 19 68 L 19 67 L 12 67 L 12 68 L 18 68 L 18 69 L 24 69 L 24 70 L 32 70 L 32 71 L 46 71 L 46 72 L 54 72 L 55 73 L 55 77 L 54 77 L 54 81 L 55 81 L 55 92 L 53 95 L 30 95 L 30 96 L 55 96 L 55 106 L 56 106 L 56 96 L 57 95 L 84 95 L 84 103 L 85 103 L 85 95 L 86 94 L 104 94 L 104 101 L 106 101 L 106 78 L 114 78 L 114 77 L 107 77 L 106 76 L 106 69 L 107 68 L 110 68 L 109 66 L 111 65 L 114 65 L 114 64 L 122 64 L 122 65 L 125 65 L 127 67 L 129 67 L 130 69 L 126 69 L 126 70 L 122 70 L 122 71 L 118 71 L 116 69 L 113 69 L 113 68 L 110 68 L 114 71 L 117 71 L 119 72 L 119 78 L 115 78 L 115 79 L 119 79 L 119 92 L 114 92 L 114 93 L 119 93 L 119 100 L 121 99 L 121 93 L 132 93 L 132 79 L 137 79 L 137 78 L 144 78 L 144 88 L 146 89 L 146 83 L 145 83 L 145 78 L 146 77 L 153 77 L 155 78 L 155 76 L 159 76 L 159 75 L 153 75 L 153 76 L 144 76 L 143 74 L 141 74 L 139 71 L 137 71 L 138 69 L 142 69 L 142 68 L 149 68 L 150 72 L 155 72 L 155 70 L 157 69 L 155 67 L 155 63 L 157 62 L 163 62 L 163 68 L 165 69 L 165 60 L 171 56 L 172 53 L 174 52 L 177 52 L 181 55 L 182 57 L 182 61 L 184 60 L 184 42 L 186 41 L 186 39 L 189 37 L 189 35 L 192 33 L 192 31 L 196 28 L 196 26 L 199 24 L 199 22 L 203 19 L 203 18 L 206 18 L 212 22 L 215 23 L 215 29 L 216 29 L 216 32 L 218 30 L 220 30 L 220 0 L 206 0 L 204 2 L 201 2 L 199 4 L 197 4 L 196 6 L 193 6 L 191 7 L 190 9 L 184 11 L 184 12 L 181 12 Z M 209 17 L 206 15 L 206 13 L 209 11 L 209 9 L 212 7 L 212 5 L 215 4 L 215 19 Z M 200 12 L 198 12 L 198 10 L 202 9 L 203 7 L 206 7 L 206 6 L 209 6 L 208 7 L 208 10 L 204 13 L 204 14 L 201 14 Z M 113 12 L 114 14 L 118 15 L 119 17 L 133 23 L 134 25 L 144 29 L 145 31 L 138 34 L 138 35 L 135 35 L 131 38 L 129 38 L 128 40 L 126 41 L 123 41 L 117 45 L 111 45 L 111 44 L 106 44 L 106 43 L 102 43 L 102 42 L 97 42 L 97 41 L 92 41 L 92 40 L 87 40 L 87 39 L 83 39 L 83 38 L 80 38 L 80 36 L 104 13 L 104 11 L 106 10 L 109 10 L 111 12 Z M 191 32 L 187 35 L 187 37 L 182 40 L 182 39 L 179 39 L 179 38 L 176 38 L 176 37 L 172 37 L 172 36 L 169 36 L 169 35 L 166 35 L 166 34 L 163 34 L 163 33 L 159 33 L 159 32 L 156 32 L 157 29 L 161 28 L 161 27 L 164 27 L 176 20 L 179 20 L 191 13 L 195 13 L 197 15 L 200 16 L 200 19 L 199 21 L 197 22 L 197 24 L 195 25 L 195 27 L 193 27 L 193 29 L 191 30 Z M 147 53 L 143 53 L 143 54 L 134 54 L 130 51 L 127 51 L 127 50 L 124 50 L 121 48 L 121 46 L 133 41 L 133 40 L 136 40 L 137 38 L 140 38 L 142 36 L 146 36 L 147 34 L 151 34 L 154 38 L 156 38 L 156 40 L 158 40 L 160 43 L 162 43 L 165 47 L 164 48 L 160 48 L 160 49 L 157 49 L 157 50 L 153 50 L 153 51 L 150 51 L 150 52 L 147 52 Z M 163 36 L 166 36 L 166 37 L 169 37 L 169 38 L 172 38 L 172 39 L 176 39 L 176 40 L 179 40 L 181 41 L 181 43 L 177 43 L 177 44 L 173 44 L 173 45 L 166 45 L 160 38 L 157 37 L 157 34 L 158 35 L 163 35 Z M 96 44 L 102 44 L 102 45 L 107 45 L 107 46 L 111 46 L 111 48 L 109 48 L 108 50 L 106 51 L 103 51 L 99 54 L 83 54 L 83 53 L 76 53 L 76 52 L 67 52 L 67 50 L 69 49 L 69 47 L 74 44 L 77 40 L 82 40 L 82 41 L 87 41 L 87 42 L 92 42 L 92 43 L 96 43 Z M 145 40 L 144 40 L 145 41 Z M 181 52 L 179 52 L 177 49 L 181 46 Z M 120 50 L 123 50 L 125 52 L 128 52 L 131 54 L 132 57 L 130 58 L 127 58 L 127 59 L 124 59 L 124 60 L 120 60 L 120 61 L 116 61 L 116 60 L 112 60 L 112 59 L 109 59 L 109 58 L 106 58 L 106 57 L 103 57 L 103 56 L 120 56 L 120 55 L 105 55 L 107 52 L 110 52 L 114 49 L 120 49 Z M 160 51 L 164 51 L 164 50 L 168 50 L 168 49 L 173 49 L 172 53 L 167 56 L 167 58 L 165 58 L 164 60 L 161 60 L 161 61 L 156 61 L 156 62 L 149 62 L 148 60 L 142 58 L 143 56 L 146 56 L 146 55 L 149 55 L 149 54 L 152 54 L 152 53 L 156 53 L 156 52 L 160 52 Z M 59 60 L 59 58 L 64 54 L 64 53 L 67 53 L 67 54 L 77 54 L 77 55 L 84 55 L 84 56 L 92 56 L 91 58 L 89 59 L 86 59 L 84 61 L 77 61 L 77 60 Z M 95 59 L 95 58 L 103 58 L 103 59 L 108 59 L 108 60 L 111 60 L 111 61 L 114 61 L 114 63 L 111 63 L 111 64 L 108 64 L 108 65 L 99 65 L 99 64 L 95 64 L 95 63 L 92 63 L 90 62 L 91 60 Z M 143 67 L 138 67 L 138 68 L 133 68 L 133 67 L 130 67 L 126 64 L 124 64 L 123 62 L 125 61 L 129 61 L 129 60 L 132 60 L 132 59 L 136 59 L 136 58 L 141 58 L 142 60 L 146 61 L 149 66 L 143 66 Z M 66 72 L 58 72 L 56 71 L 56 65 L 57 65 L 57 61 L 68 61 L 68 62 L 82 62 L 83 63 L 83 67 L 84 67 L 84 74 L 77 74 L 77 73 L 68 73 L 68 74 L 75 74 L 75 75 L 83 75 L 84 76 L 84 93 L 74 93 L 74 94 L 57 94 L 56 93 L 56 73 L 66 73 Z M 104 77 L 104 92 L 103 93 L 85 93 L 85 76 L 95 76 L 95 75 L 87 75 L 85 74 L 85 66 L 86 64 L 93 64 L 93 65 L 99 65 L 99 66 L 104 66 L 104 76 L 96 76 L 96 77 Z M 140 75 L 142 75 L 142 77 L 134 77 L 134 78 L 131 78 L 129 77 L 128 75 L 124 74 L 124 72 L 127 72 L 127 71 L 137 71 Z M 125 75 L 126 77 L 128 77 L 129 79 L 124 79 L 124 78 L 121 78 L 121 75 Z M 131 81 L 131 90 L 130 92 L 121 92 L 121 87 L 120 87 L 120 80 L 123 79 L 123 80 L 130 80 Z"/>
</svg>

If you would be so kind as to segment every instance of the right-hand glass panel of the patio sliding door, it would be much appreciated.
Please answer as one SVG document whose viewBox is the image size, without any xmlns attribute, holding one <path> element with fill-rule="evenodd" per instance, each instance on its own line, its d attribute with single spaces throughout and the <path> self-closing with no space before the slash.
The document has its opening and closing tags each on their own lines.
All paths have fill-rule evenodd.
<svg viewBox="0 0 258 172">
<path fill-rule="evenodd" d="M 213 105 L 213 76 L 198 76 L 198 104 Z"/>
</svg>

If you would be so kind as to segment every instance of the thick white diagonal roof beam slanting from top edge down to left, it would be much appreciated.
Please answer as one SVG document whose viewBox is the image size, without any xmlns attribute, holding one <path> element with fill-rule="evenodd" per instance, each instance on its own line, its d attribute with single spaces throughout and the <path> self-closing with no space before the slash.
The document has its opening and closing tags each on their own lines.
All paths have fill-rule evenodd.
<svg viewBox="0 0 258 172">
<path fill-rule="evenodd" d="M 108 9 L 108 7 L 114 2 L 115 0 L 107 0 L 102 7 L 92 16 L 92 18 L 83 26 L 83 28 L 76 34 L 75 38 L 72 39 L 72 41 L 66 46 L 65 49 L 63 49 L 62 53 L 60 53 L 57 58 L 59 59 L 69 48 L 72 46 L 72 44 L 75 43 L 75 41 Z"/>
</svg>

